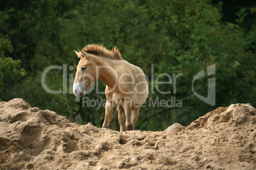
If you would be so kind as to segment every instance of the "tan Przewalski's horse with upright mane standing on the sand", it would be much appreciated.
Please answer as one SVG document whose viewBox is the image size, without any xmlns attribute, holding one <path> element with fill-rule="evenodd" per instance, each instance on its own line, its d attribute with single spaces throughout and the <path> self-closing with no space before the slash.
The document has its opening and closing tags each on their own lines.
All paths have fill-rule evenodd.
<svg viewBox="0 0 256 170">
<path fill-rule="evenodd" d="M 110 51 L 102 45 L 89 44 L 78 51 L 75 53 L 80 62 L 76 68 L 73 93 L 84 96 L 90 86 L 101 79 L 106 84 L 103 128 L 108 128 L 117 107 L 120 131 L 133 130 L 139 109 L 148 98 L 148 83 L 143 70 L 122 60 L 117 48 Z"/>
</svg>

